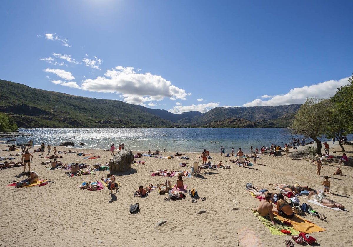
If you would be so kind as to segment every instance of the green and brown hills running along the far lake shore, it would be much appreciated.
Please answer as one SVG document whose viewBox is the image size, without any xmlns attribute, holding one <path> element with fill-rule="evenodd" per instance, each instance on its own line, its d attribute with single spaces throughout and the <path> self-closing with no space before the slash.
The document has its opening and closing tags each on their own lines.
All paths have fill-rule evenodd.
<svg viewBox="0 0 353 247">
<path fill-rule="evenodd" d="M 117 100 L 30 88 L 0 80 L 0 112 L 19 127 L 286 127 L 299 104 L 276 107 L 217 107 L 207 113 L 170 113 Z"/>
</svg>

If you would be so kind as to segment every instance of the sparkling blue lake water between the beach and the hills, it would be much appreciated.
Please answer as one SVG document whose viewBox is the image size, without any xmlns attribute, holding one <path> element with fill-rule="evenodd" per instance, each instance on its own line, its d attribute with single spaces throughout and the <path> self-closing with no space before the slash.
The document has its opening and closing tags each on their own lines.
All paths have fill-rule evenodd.
<svg viewBox="0 0 353 247">
<path fill-rule="evenodd" d="M 14 143 L 27 143 L 32 139 L 35 145 L 55 146 L 72 141 L 74 147 L 83 149 L 110 149 L 113 143 L 118 148 L 119 143 L 124 143 L 125 149 L 152 152 L 166 149 L 167 152 L 181 153 L 203 149 L 219 152 L 220 145 L 225 147 L 226 154 L 232 152 L 232 147 L 235 152 L 241 148 L 249 153 L 250 146 L 255 151 L 255 147 L 271 146 L 272 143 L 283 146 L 293 138 L 302 139 L 279 128 L 38 128 L 19 131 L 32 135 L 18 137 Z M 80 143 L 85 145 L 81 147 Z"/>
</svg>

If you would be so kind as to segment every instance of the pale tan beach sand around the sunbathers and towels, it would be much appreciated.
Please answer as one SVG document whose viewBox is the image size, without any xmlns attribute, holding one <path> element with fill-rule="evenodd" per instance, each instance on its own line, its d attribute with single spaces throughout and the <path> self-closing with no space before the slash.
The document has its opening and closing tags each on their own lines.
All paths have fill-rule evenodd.
<svg viewBox="0 0 353 247">
<path fill-rule="evenodd" d="M 332 145 L 331 149 L 337 157 L 342 152 L 339 145 Z M 345 146 L 346 153 L 352 155 L 353 148 Z M 0 150 L 6 150 L 5 144 Z M 66 147 L 57 147 L 59 150 L 68 150 Z M 245 149 L 245 148 L 244 148 Z M 245 190 L 247 182 L 269 191 L 278 193 L 279 190 L 269 186 L 271 182 L 300 183 L 294 179 L 293 173 L 307 178 L 324 180 L 316 175 L 316 165 L 292 160 L 289 157 L 268 157 L 260 155 L 257 165 L 250 168 L 238 167 L 230 160 L 234 157 L 221 157 L 219 153 L 211 153 L 210 161 L 218 164 L 230 165 L 231 169 L 211 170 L 211 174 L 201 174 L 197 177 L 184 179 L 188 189 L 195 188 L 205 201 L 191 202 L 191 197 L 177 201 L 164 201 L 164 195 L 155 189 L 147 197 L 133 197 L 139 185 L 164 183 L 166 177 L 151 176 L 151 170 L 182 168 L 179 163 L 185 161 L 201 162 L 196 157 L 200 153 L 183 153 L 189 160 L 166 158 L 137 158 L 136 161 L 145 161 L 145 164 L 135 165 L 127 173 L 117 174 L 116 180 L 121 184 L 117 193 L 110 195 L 104 187 L 99 191 L 79 189 L 83 182 L 100 180 L 107 175 L 107 171 L 96 171 L 94 175 L 68 177 L 65 170 L 48 170 L 50 165 L 41 162 L 49 159 L 40 158 L 39 153 L 34 155 L 31 170 L 39 174 L 40 179 L 55 181 L 45 186 L 28 188 L 6 187 L 12 180 L 21 180 L 23 167 L 0 170 L 1 173 L 1 236 L 0 246 L 285 246 L 284 241 L 290 236 L 271 235 L 270 231 L 261 224 L 252 214 L 250 208 L 256 207 L 259 201 Z M 104 164 L 113 157 L 110 151 L 103 150 L 75 150 L 85 153 L 94 152 L 100 155 L 97 159 L 83 159 L 88 156 L 77 156 L 76 153 L 63 154 L 58 160 L 64 163 L 96 163 Z M 0 151 L 0 157 L 8 157 L 19 151 Z M 134 152 L 136 153 L 136 152 Z M 46 154 L 46 153 L 44 153 Z M 162 153 L 167 157 L 175 153 Z M 21 156 L 13 156 L 15 162 Z M 3 161 L 0 161 L 3 162 Z M 324 164 L 321 175 L 329 175 L 331 184 L 338 184 L 353 189 L 353 169 L 341 165 L 343 174 L 347 176 L 331 176 L 336 165 Z M 281 171 L 279 175 L 273 171 Z M 26 178 L 26 177 L 23 177 Z M 177 177 L 169 180 L 175 184 Z M 317 189 L 318 187 L 313 187 Z M 320 187 L 322 188 L 322 187 Z M 343 194 L 331 195 L 331 199 L 346 206 L 348 212 L 336 211 L 311 204 L 323 213 L 328 222 L 317 217 L 305 217 L 327 231 L 310 234 L 317 239 L 321 246 L 349 246 L 353 242 L 351 228 L 352 197 Z M 306 199 L 299 197 L 300 203 Z M 234 202 L 235 200 L 236 202 Z M 130 214 L 131 204 L 139 203 L 140 212 Z M 196 214 L 205 210 L 203 214 Z M 155 227 L 160 220 L 166 221 Z"/>
</svg>

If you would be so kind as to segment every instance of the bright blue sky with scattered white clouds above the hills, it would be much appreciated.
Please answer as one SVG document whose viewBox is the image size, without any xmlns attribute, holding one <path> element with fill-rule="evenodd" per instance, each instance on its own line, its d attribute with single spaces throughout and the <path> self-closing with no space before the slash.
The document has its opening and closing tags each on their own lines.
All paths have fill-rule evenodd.
<svg viewBox="0 0 353 247">
<path fill-rule="evenodd" d="M 4 1 L 0 79 L 173 113 L 328 98 L 353 1 Z"/>
</svg>

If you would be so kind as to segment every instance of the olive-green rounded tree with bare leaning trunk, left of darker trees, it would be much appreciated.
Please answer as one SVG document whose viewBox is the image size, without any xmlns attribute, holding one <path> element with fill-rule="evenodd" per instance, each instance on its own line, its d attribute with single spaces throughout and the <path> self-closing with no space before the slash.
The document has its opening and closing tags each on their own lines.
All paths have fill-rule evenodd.
<svg viewBox="0 0 353 247">
<path fill-rule="evenodd" d="M 330 103 L 328 99 L 307 98 L 294 116 L 294 120 L 289 127 L 292 134 L 304 135 L 304 138 L 310 137 L 316 143 L 316 153 L 321 153 L 321 138 L 327 130 Z"/>
</svg>

